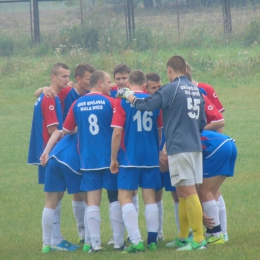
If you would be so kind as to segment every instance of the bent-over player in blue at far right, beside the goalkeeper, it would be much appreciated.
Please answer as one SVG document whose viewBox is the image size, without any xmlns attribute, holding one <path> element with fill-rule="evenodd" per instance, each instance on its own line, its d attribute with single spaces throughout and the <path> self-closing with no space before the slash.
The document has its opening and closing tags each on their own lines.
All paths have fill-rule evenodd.
<svg viewBox="0 0 260 260">
<path fill-rule="evenodd" d="M 203 148 L 203 183 L 199 185 L 201 203 L 205 214 L 213 218 L 212 228 L 207 227 L 209 245 L 224 244 L 225 238 L 219 216 L 218 190 L 226 177 L 233 177 L 237 149 L 229 136 L 204 130 L 201 133 Z"/>
</svg>

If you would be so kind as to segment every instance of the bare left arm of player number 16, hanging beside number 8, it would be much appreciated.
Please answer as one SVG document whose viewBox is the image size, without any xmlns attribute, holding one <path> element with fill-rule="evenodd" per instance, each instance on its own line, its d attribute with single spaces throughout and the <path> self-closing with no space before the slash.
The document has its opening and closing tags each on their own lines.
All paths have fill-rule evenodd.
<svg viewBox="0 0 260 260">
<path fill-rule="evenodd" d="M 112 136 L 112 143 L 111 143 L 111 163 L 110 163 L 110 171 L 113 174 L 118 173 L 118 161 L 117 161 L 117 154 L 120 147 L 122 136 L 122 128 L 114 128 L 113 136 Z"/>
</svg>

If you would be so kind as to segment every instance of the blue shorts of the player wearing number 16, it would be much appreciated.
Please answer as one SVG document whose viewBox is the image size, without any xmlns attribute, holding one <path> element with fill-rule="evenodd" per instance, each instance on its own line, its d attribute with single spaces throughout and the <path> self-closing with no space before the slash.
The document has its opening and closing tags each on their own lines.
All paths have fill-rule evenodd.
<svg viewBox="0 0 260 260">
<path fill-rule="evenodd" d="M 143 189 L 161 189 L 162 178 L 159 168 L 119 168 L 117 177 L 118 189 L 137 190 L 138 186 Z"/>
</svg>

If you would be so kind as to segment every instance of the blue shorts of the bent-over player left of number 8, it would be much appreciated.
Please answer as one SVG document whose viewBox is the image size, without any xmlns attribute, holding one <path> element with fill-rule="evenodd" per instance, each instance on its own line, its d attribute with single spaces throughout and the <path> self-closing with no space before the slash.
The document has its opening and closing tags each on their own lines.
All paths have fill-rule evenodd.
<svg viewBox="0 0 260 260">
<path fill-rule="evenodd" d="M 68 194 L 80 192 L 82 175 L 73 172 L 66 165 L 50 158 L 46 166 L 45 192 L 68 191 Z"/>
</svg>

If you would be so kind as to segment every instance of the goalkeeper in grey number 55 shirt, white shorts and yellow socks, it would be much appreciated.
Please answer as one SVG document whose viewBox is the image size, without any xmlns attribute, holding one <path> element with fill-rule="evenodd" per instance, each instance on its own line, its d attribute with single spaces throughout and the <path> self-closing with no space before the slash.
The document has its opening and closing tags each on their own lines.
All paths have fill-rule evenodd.
<svg viewBox="0 0 260 260">
<path fill-rule="evenodd" d="M 171 184 L 176 186 L 180 201 L 180 234 L 175 240 L 178 251 L 206 249 L 207 243 L 201 221 L 202 207 L 195 186 L 202 183 L 200 132 L 206 125 L 204 100 L 185 73 L 185 60 L 181 56 L 173 56 L 167 62 L 170 83 L 150 98 L 140 99 L 129 89 L 121 89 L 117 95 L 126 98 L 138 110 L 162 108 Z M 188 239 L 189 227 L 193 230 L 192 241 Z"/>
</svg>

